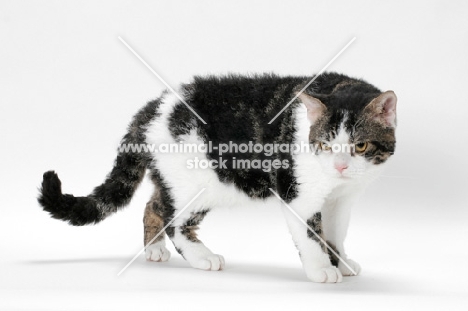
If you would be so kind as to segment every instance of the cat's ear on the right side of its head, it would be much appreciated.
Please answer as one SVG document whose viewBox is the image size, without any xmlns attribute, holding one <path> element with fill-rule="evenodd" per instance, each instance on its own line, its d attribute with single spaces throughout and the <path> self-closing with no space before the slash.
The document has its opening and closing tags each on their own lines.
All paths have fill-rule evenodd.
<svg viewBox="0 0 468 311">
<path fill-rule="evenodd" d="M 396 127 L 396 102 L 395 93 L 387 91 L 374 98 L 364 111 L 374 120 L 389 127 Z"/>
</svg>

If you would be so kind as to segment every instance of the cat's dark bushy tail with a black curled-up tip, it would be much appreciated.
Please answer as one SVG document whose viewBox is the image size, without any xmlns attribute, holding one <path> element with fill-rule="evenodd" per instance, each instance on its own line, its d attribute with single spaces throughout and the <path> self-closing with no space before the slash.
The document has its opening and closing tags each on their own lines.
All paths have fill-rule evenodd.
<svg viewBox="0 0 468 311">
<path fill-rule="evenodd" d="M 44 173 L 39 204 L 53 218 L 74 226 L 94 224 L 125 207 L 139 186 L 151 157 L 146 151 L 125 150 L 124 144 L 144 144 L 148 124 L 157 115 L 160 99 L 149 102 L 134 117 L 123 137 L 112 171 L 102 185 L 86 197 L 63 194 L 60 179 L 53 171 Z"/>
</svg>

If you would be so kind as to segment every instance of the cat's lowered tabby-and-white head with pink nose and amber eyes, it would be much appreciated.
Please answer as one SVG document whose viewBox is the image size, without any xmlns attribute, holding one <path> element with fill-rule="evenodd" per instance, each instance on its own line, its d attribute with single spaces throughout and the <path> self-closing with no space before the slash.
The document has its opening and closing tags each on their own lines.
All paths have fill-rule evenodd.
<svg viewBox="0 0 468 311">
<path fill-rule="evenodd" d="M 337 178 L 372 175 L 395 151 L 396 103 L 393 91 L 366 83 L 326 95 L 299 95 L 307 108 L 309 143 L 323 171 Z"/>
</svg>

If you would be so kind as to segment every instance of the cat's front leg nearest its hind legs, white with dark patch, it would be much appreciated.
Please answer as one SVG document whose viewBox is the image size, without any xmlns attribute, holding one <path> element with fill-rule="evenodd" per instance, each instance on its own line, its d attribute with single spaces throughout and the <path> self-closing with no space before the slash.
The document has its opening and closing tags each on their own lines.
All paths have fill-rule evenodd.
<svg viewBox="0 0 468 311">
<path fill-rule="evenodd" d="M 284 208 L 289 230 L 299 250 L 306 275 L 313 282 L 341 282 L 342 274 L 331 264 L 327 247 L 323 243 L 325 238 L 322 229 L 322 202 L 311 204 L 307 201 L 295 200 L 289 207 Z"/>
</svg>

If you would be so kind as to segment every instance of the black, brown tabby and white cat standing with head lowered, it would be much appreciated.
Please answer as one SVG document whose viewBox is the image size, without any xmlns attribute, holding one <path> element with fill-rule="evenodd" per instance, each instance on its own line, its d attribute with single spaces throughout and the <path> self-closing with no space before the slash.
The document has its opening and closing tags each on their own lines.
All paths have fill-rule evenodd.
<svg viewBox="0 0 468 311">
<path fill-rule="evenodd" d="M 210 210 L 283 204 L 306 276 L 341 282 L 361 270 L 344 249 L 350 208 L 394 154 L 397 98 L 343 74 L 310 80 L 196 76 L 134 116 L 112 171 L 90 195 L 62 194 L 48 171 L 38 201 L 53 218 L 95 224 L 128 205 L 148 172 L 155 190 L 144 212 L 146 258 L 169 259 L 167 235 L 192 267 L 205 270 L 225 266 L 196 234 Z M 203 148 L 176 152 L 186 146 Z"/>
</svg>

